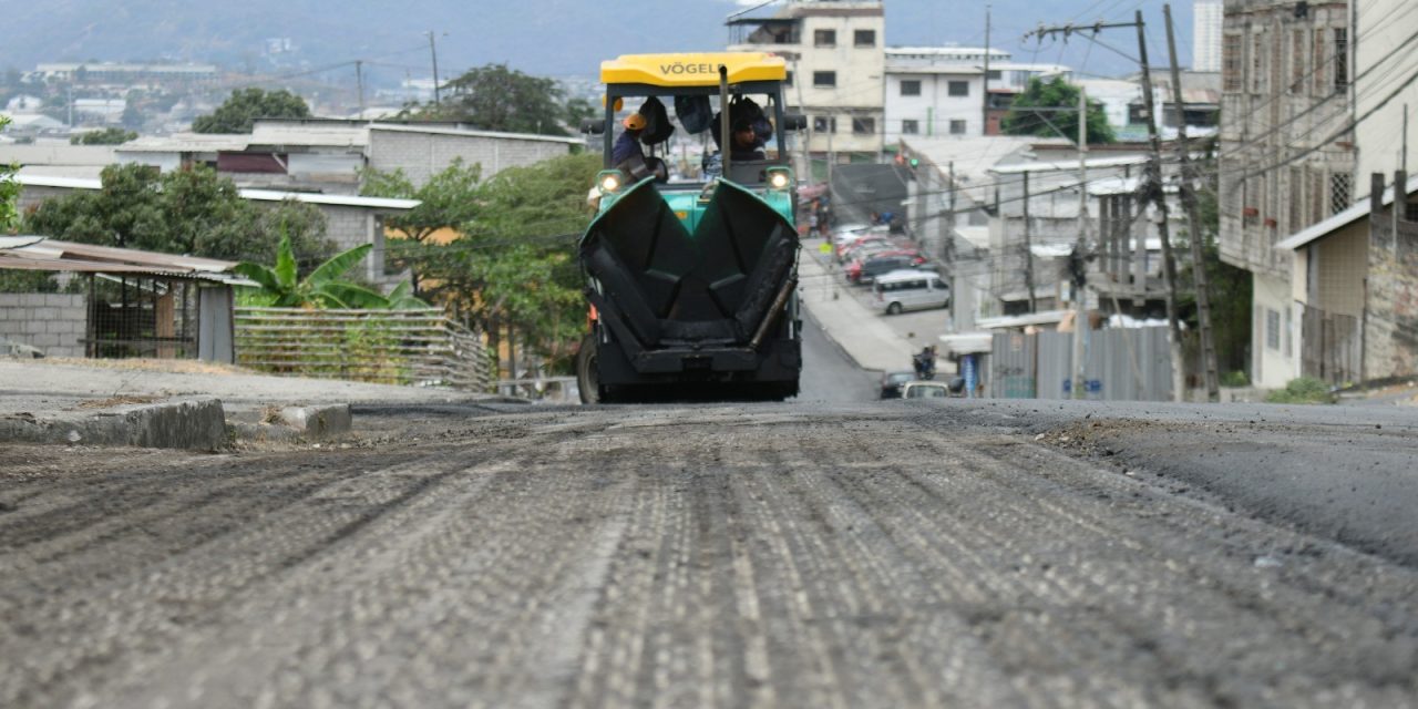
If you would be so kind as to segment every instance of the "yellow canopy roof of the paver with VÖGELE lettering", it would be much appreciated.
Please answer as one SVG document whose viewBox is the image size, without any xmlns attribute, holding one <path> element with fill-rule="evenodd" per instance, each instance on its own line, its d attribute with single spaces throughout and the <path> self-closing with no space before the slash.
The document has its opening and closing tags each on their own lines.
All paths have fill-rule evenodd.
<svg viewBox="0 0 1418 709">
<path fill-rule="evenodd" d="M 766 52 L 623 54 L 601 62 L 601 82 L 718 86 L 720 64 L 729 68 L 729 84 L 787 78 L 783 57 Z"/>
</svg>

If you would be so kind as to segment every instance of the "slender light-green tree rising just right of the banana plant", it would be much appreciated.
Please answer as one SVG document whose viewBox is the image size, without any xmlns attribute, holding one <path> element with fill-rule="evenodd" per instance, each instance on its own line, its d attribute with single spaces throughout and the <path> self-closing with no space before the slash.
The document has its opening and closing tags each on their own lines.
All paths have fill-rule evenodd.
<svg viewBox="0 0 1418 709">
<path fill-rule="evenodd" d="M 413 210 L 384 218 L 384 228 L 397 234 L 389 244 L 389 261 L 396 268 L 407 268 L 414 295 L 420 295 L 420 279 L 425 262 L 434 258 L 428 238 L 445 228 L 458 228 L 475 220 L 481 211 L 478 180 L 481 164 L 452 164 L 415 187 L 403 170 L 364 173 L 360 193 L 369 197 L 398 197 L 418 200 Z"/>
</svg>

